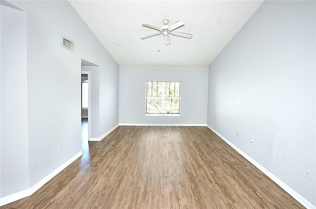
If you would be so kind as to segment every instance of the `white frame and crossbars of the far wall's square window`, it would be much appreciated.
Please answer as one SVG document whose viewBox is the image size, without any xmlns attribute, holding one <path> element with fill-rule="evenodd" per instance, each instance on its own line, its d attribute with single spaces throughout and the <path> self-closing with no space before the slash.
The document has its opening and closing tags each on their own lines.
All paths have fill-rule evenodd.
<svg viewBox="0 0 316 209">
<path fill-rule="evenodd" d="M 162 97 L 147 97 L 147 82 L 162 82 Z M 161 99 L 162 100 L 162 109 L 164 109 L 164 82 L 179 82 L 180 83 L 180 97 L 174 97 L 175 99 L 179 99 L 179 113 L 147 113 L 147 99 Z M 145 116 L 181 116 L 181 81 L 179 80 L 147 80 L 145 88 Z M 169 98 L 169 97 L 167 97 Z"/>
</svg>

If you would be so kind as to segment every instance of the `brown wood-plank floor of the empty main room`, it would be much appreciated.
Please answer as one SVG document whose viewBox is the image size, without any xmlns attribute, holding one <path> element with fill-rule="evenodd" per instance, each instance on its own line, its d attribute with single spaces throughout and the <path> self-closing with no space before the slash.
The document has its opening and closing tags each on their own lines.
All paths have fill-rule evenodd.
<svg viewBox="0 0 316 209">
<path fill-rule="evenodd" d="M 207 127 L 119 126 L 2 209 L 303 209 Z"/>
</svg>

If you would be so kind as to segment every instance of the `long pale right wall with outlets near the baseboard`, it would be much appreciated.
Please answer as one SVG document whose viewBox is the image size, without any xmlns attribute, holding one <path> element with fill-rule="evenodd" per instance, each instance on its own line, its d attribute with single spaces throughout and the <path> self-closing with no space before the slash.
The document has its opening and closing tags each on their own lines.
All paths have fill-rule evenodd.
<svg viewBox="0 0 316 209">
<path fill-rule="evenodd" d="M 209 67 L 207 117 L 314 206 L 315 11 L 316 1 L 265 1 Z"/>
</svg>

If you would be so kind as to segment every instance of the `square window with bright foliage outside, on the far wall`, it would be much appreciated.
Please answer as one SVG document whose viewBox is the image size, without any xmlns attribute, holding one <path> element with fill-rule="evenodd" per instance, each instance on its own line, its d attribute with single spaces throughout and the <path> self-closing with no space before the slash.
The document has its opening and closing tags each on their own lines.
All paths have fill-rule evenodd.
<svg viewBox="0 0 316 209">
<path fill-rule="evenodd" d="M 180 114 L 180 81 L 147 81 L 146 114 Z"/>
</svg>

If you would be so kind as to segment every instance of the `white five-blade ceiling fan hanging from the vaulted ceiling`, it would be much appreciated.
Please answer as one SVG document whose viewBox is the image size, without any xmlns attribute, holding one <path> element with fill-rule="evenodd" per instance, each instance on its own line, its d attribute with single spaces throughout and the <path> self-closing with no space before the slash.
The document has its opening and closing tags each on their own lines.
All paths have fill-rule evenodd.
<svg viewBox="0 0 316 209">
<path fill-rule="evenodd" d="M 143 27 L 146 27 L 146 28 L 150 28 L 150 29 L 154 29 L 156 31 L 158 31 L 159 33 L 157 34 L 152 34 L 152 35 L 147 35 L 147 36 L 144 36 L 144 37 L 141 37 L 141 39 L 146 39 L 146 38 L 150 38 L 150 37 L 153 37 L 155 35 L 160 35 L 162 34 L 163 35 L 163 38 L 164 38 L 164 43 L 166 45 L 169 45 L 170 44 L 170 39 L 169 39 L 169 34 L 171 35 L 176 35 L 176 36 L 180 36 L 180 37 L 184 37 L 184 38 L 192 38 L 192 34 L 186 34 L 186 33 L 182 33 L 182 32 L 176 32 L 174 30 L 178 29 L 178 28 L 181 28 L 184 26 L 184 23 L 181 22 L 180 20 L 175 22 L 173 25 L 171 26 L 168 26 L 167 24 L 169 23 L 168 20 L 163 20 L 162 21 L 163 23 L 163 26 L 161 26 L 160 28 L 157 28 L 155 26 L 151 26 L 151 25 L 148 25 L 148 24 L 143 24 L 142 26 Z"/>
</svg>

